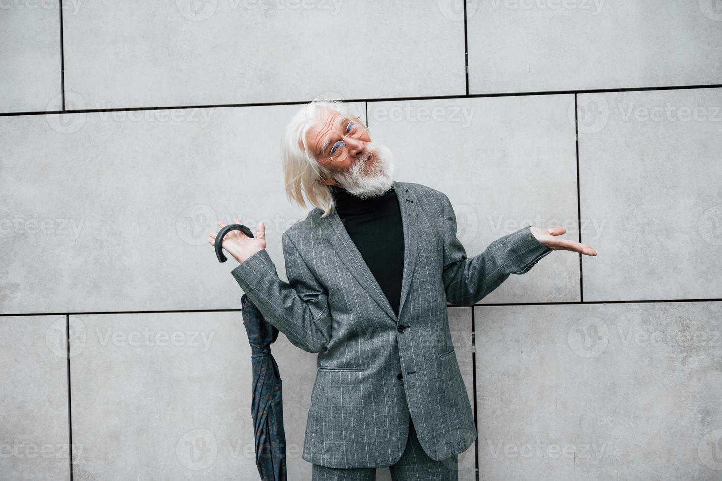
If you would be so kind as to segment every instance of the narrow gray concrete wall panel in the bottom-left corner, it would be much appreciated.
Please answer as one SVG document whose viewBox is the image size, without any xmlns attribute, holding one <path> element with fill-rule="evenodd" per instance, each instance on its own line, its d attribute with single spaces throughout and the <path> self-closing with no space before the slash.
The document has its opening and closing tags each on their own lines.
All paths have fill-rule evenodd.
<svg viewBox="0 0 722 481">
<path fill-rule="evenodd" d="M 70 480 L 66 332 L 63 315 L 0 317 L 3 480 Z"/>
</svg>

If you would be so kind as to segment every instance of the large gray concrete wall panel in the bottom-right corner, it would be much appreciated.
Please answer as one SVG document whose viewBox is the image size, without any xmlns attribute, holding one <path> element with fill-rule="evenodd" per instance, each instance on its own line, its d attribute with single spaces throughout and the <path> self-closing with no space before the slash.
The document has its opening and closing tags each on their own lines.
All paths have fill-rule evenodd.
<svg viewBox="0 0 722 481">
<path fill-rule="evenodd" d="M 722 303 L 475 309 L 480 479 L 718 478 Z"/>
</svg>

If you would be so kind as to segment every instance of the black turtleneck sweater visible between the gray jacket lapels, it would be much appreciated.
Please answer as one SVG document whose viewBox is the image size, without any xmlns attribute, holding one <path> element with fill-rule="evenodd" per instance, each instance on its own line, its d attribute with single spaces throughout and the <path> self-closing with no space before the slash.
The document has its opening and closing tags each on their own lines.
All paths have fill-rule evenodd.
<svg viewBox="0 0 722 481">
<path fill-rule="evenodd" d="M 396 191 L 391 187 L 378 197 L 361 199 L 333 185 L 331 195 L 349 237 L 398 317 L 404 274 L 404 226 Z"/>
</svg>

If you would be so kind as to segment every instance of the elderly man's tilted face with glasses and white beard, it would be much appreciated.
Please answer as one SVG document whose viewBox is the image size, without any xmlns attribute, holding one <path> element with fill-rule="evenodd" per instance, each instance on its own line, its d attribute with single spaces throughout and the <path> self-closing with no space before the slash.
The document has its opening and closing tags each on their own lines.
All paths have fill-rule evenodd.
<svg viewBox="0 0 722 481">
<path fill-rule="evenodd" d="M 340 185 L 362 198 L 386 192 L 393 182 L 393 156 L 385 146 L 371 141 L 367 132 L 356 138 L 346 136 L 351 116 L 323 109 L 320 120 L 311 128 L 306 141 L 316 162 L 329 172 L 326 185 Z M 345 138 L 344 138 L 345 136 Z M 337 142 L 343 141 L 345 153 L 330 159 Z"/>
</svg>

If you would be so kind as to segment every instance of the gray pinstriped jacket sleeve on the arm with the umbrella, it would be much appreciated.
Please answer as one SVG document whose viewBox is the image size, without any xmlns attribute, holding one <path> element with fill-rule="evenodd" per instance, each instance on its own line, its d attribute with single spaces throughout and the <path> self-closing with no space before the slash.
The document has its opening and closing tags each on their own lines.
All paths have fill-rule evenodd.
<svg viewBox="0 0 722 481">
<path fill-rule="evenodd" d="M 308 270 L 288 231 L 282 240 L 289 282 L 279 278 L 265 249 L 248 257 L 231 273 L 266 322 L 298 348 L 318 353 L 331 340 L 328 295 Z"/>
</svg>

